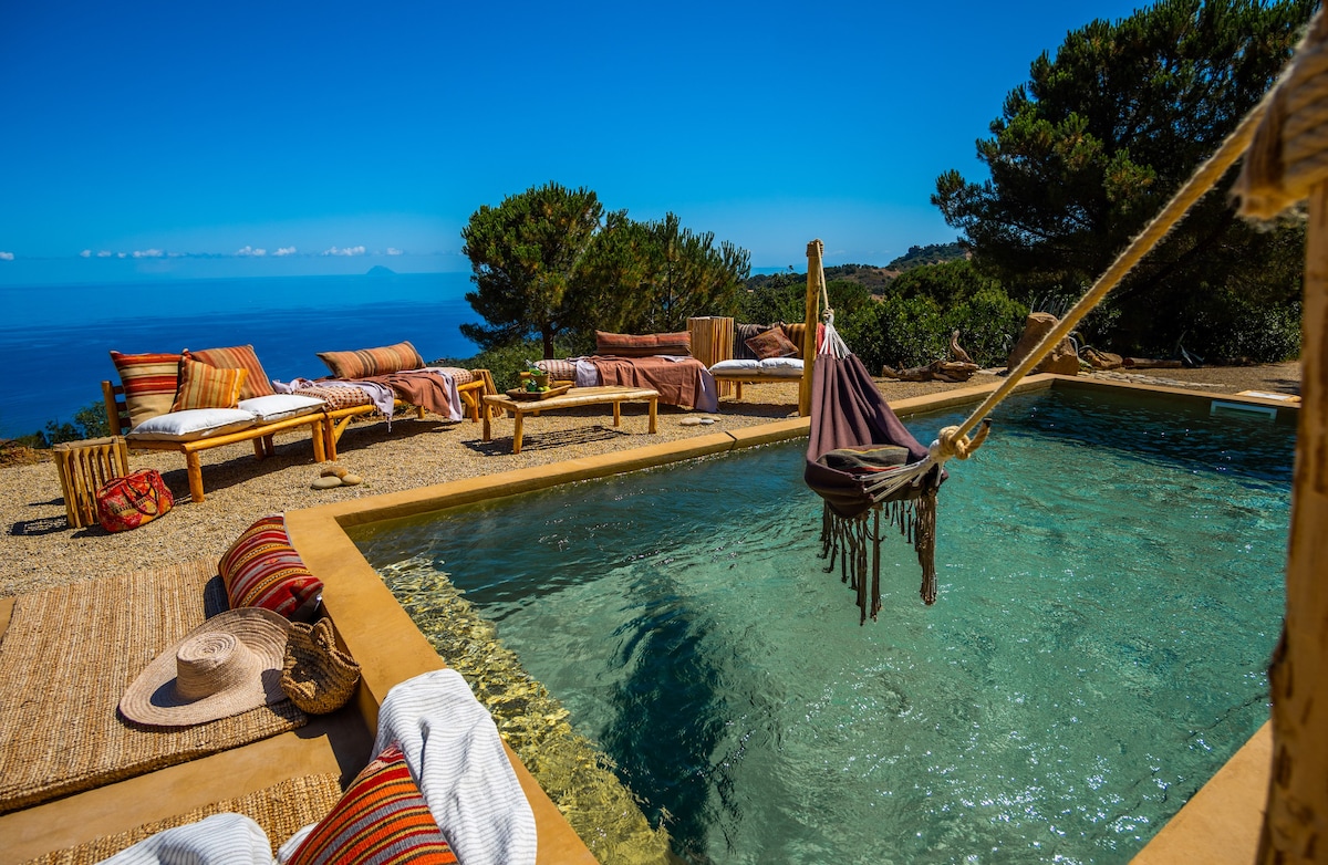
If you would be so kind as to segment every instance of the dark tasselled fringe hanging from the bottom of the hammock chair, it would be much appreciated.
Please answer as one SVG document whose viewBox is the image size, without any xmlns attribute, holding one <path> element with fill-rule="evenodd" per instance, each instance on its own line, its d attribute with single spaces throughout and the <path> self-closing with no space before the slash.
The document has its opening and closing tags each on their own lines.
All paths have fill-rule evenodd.
<svg viewBox="0 0 1328 865">
<path fill-rule="evenodd" d="M 931 488 L 916 499 L 876 504 L 857 516 L 841 516 L 829 503 L 822 505 L 821 557 L 829 559 L 826 573 L 834 570 L 839 560 L 839 581 L 858 596 L 858 624 L 867 616 L 876 621 L 880 612 L 880 512 L 898 527 L 918 553 L 922 565 L 922 586 L 918 594 L 923 604 L 936 602 L 936 490 Z M 869 527 L 870 521 L 870 527 Z M 867 549 L 871 548 L 871 574 L 867 574 Z"/>
</svg>

